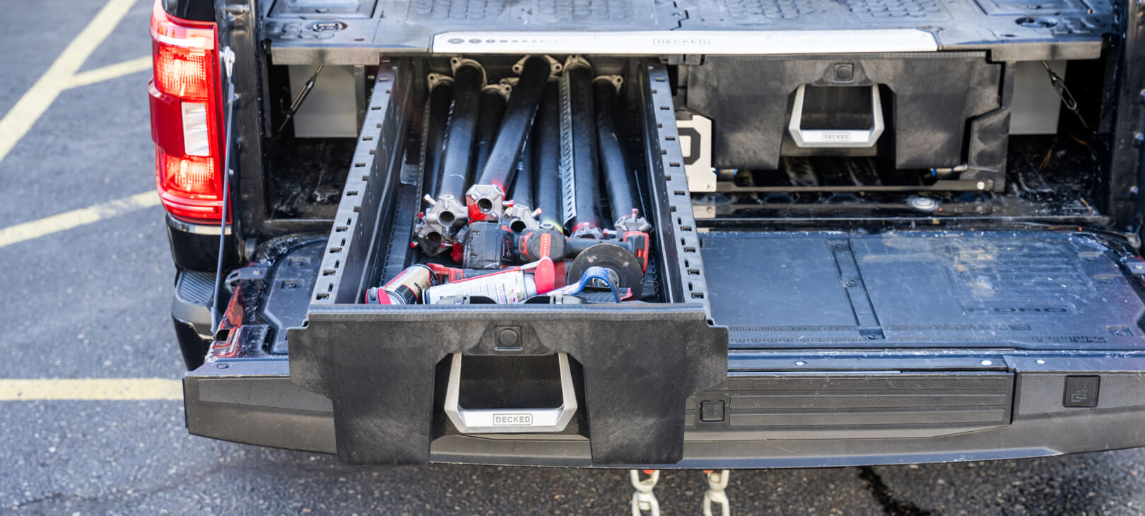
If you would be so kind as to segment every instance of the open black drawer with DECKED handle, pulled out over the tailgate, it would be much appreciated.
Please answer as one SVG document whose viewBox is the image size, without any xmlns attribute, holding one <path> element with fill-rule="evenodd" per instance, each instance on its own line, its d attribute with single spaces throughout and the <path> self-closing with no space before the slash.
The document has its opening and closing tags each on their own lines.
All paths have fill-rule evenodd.
<svg viewBox="0 0 1145 516">
<path fill-rule="evenodd" d="M 490 79 L 506 76 L 514 61 L 483 62 L 485 73 Z M 631 120 L 627 148 L 637 151 L 629 152 L 629 161 L 638 170 L 641 212 L 653 227 L 643 294 L 634 302 L 364 304 L 370 287 L 427 261 L 410 244 L 426 193 L 426 152 L 411 142 L 427 130 L 428 122 L 416 119 L 427 103 L 426 70 L 437 63 L 401 59 L 379 69 L 308 324 L 289 331 L 291 380 L 333 402 L 342 460 L 426 461 L 433 434 L 450 427 L 435 423 L 441 411 L 434 404 L 439 364 L 451 354 L 567 354 L 576 364 L 576 383 L 583 386 L 583 416 L 566 434 L 590 439 L 593 462 L 672 463 L 681 458 L 680 408 L 689 396 L 725 378 L 727 332 L 709 318 L 664 66 L 639 58 L 592 64 L 595 74 L 623 78 L 618 119 Z M 562 133 L 566 152 L 576 145 L 568 136 Z"/>
</svg>

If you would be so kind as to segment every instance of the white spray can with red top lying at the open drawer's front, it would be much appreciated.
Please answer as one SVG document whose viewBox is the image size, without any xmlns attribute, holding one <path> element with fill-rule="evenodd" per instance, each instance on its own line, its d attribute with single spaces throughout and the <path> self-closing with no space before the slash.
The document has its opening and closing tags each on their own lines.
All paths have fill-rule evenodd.
<svg viewBox="0 0 1145 516">
<path fill-rule="evenodd" d="M 443 297 L 455 295 L 481 295 L 497 303 L 520 303 L 552 291 L 555 276 L 553 260 L 546 256 L 520 268 L 429 287 L 425 292 L 425 300 L 426 303 L 434 304 Z"/>
</svg>

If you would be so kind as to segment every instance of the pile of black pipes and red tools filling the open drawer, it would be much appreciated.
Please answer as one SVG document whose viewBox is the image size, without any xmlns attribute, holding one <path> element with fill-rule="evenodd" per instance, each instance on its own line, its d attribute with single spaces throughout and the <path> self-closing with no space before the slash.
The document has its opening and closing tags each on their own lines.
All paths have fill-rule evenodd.
<svg viewBox="0 0 1145 516">
<path fill-rule="evenodd" d="M 652 224 L 624 134 L 624 80 L 570 56 L 431 73 L 412 265 L 366 303 L 640 300 Z M 406 214 L 396 214 L 406 216 Z"/>
</svg>

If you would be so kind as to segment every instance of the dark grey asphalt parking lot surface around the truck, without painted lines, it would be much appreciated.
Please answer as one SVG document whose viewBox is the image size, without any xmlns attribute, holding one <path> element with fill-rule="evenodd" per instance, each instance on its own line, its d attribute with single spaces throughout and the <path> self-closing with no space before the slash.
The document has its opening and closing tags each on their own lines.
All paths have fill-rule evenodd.
<svg viewBox="0 0 1145 516">
<path fill-rule="evenodd" d="M 0 117 L 103 0 L 0 0 Z M 139 0 L 80 72 L 150 55 Z M 155 188 L 148 72 L 64 89 L 0 158 L 0 228 Z M 0 379 L 177 379 L 174 268 L 158 206 L 0 246 Z M 700 514 L 665 471 L 665 514 Z M 1142 514 L 1145 451 L 1034 460 L 734 471 L 736 515 Z M 335 458 L 187 434 L 177 400 L 0 402 L 3 514 L 629 514 L 625 471 Z"/>
</svg>

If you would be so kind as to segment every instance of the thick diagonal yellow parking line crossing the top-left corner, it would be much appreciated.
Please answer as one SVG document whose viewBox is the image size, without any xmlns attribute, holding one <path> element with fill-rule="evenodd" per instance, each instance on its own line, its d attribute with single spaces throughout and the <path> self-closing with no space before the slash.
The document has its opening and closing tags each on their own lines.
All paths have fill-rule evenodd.
<svg viewBox="0 0 1145 516">
<path fill-rule="evenodd" d="M 108 38 L 108 34 L 111 34 L 133 3 L 135 0 L 109 0 L 76 39 L 68 43 L 68 48 L 56 57 L 52 66 L 48 66 L 48 71 L 44 72 L 32 88 L 16 101 L 16 105 L 11 106 L 8 114 L 0 118 L 0 161 L 47 111 L 60 92 L 68 88 L 72 76 Z"/>
</svg>

